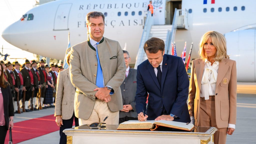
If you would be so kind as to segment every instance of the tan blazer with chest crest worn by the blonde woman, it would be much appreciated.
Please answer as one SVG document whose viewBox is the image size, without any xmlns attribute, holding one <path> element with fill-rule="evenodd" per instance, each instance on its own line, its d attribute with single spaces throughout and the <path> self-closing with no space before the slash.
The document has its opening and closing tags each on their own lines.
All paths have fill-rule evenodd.
<svg viewBox="0 0 256 144">
<path fill-rule="evenodd" d="M 204 60 L 192 61 L 189 85 L 188 109 L 190 117 L 195 117 L 195 125 L 199 124 L 200 90 Z M 223 59 L 219 62 L 215 91 L 215 115 L 218 128 L 227 128 L 228 124 L 236 124 L 237 113 L 237 68 L 236 61 Z"/>
</svg>

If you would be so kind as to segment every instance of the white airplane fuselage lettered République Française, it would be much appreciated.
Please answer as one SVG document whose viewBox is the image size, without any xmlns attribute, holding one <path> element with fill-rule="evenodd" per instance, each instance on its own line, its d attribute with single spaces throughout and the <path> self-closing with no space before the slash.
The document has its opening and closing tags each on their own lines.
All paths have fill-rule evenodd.
<svg viewBox="0 0 256 144">
<path fill-rule="evenodd" d="M 154 2 L 166 3 L 165 0 Z M 204 0 L 182 0 L 182 9 L 191 9 L 191 13 L 188 13 L 189 29 L 176 31 L 178 56 L 182 53 L 186 41 L 186 56 L 188 57 L 189 47 L 193 42 L 191 59 L 199 58 L 200 38 L 209 30 L 226 34 L 235 29 L 256 24 L 254 18 L 256 1 L 254 0 L 215 0 L 214 3 L 207 0 L 207 4 L 204 3 Z M 91 11 L 100 11 L 106 14 L 104 37 L 117 40 L 122 48 L 126 47 L 132 58 L 131 63 L 135 63 L 143 32 L 144 11 L 147 11 L 148 4 L 149 0 L 95 0 L 89 3 L 83 0 L 53 1 L 29 10 L 26 14 L 33 14 L 33 20 L 27 18 L 23 21 L 18 20 L 5 29 L 2 37 L 10 44 L 28 52 L 64 59 L 68 33 L 70 32 L 71 46 L 87 40 L 86 14 Z M 155 12 L 159 13 L 159 11 Z M 162 8 L 163 12 L 165 7 Z M 231 59 L 236 59 L 238 52 L 232 53 L 232 47 L 227 48 Z M 255 47 L 254 53 L 249 56 L 255 57 Z M 252 62 L 254 63 L 252 75 L 255 81 L 255 60 Z"/>
</svg>

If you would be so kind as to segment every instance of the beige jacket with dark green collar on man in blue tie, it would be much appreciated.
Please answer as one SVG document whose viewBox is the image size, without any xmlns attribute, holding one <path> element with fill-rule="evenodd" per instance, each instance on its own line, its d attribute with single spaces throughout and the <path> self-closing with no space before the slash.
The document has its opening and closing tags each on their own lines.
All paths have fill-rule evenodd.
<svg viewBox="0 0 256 144">
<path fill-rule="evenodd" d="M 74 100 L 75 116 L 84 120 L 89 119 L 94 104 L 96 86 L 97 57 L 96 50 L 89 40 L 71 48 L 70 78 L 77 88 Z M 114 94 L 108 107 L 112 112 L 122 109 L 122 95 L 120 85 L 125 78 L 124 54 L 117 41 L 103 37 L 98 44 L 98 54 L 103 71 L 105 86 L 111 86 Z"/>
</svg>

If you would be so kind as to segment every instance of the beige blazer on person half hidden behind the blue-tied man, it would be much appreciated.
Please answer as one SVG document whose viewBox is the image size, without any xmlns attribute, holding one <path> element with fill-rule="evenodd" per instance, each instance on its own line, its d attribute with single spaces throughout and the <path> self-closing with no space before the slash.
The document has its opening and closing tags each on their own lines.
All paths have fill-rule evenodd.
<svg viewBox="0 0 256 144">
<path fill-rule="evenodd" d="M 61 115 L 62 119 L 70 119 L 73 116 L 75 92 L 76 88 L 69 78 L 69 68 L 59 72 L 54 116 Z"/>
</svg>

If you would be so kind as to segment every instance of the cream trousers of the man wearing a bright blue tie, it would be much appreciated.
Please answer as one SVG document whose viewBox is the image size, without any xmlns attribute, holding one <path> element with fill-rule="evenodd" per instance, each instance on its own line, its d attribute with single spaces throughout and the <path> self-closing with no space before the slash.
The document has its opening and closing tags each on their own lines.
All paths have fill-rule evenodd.
<svg viewBox="0 0 256 144">
<path fill-rule="evenodd" d="M 106 116 L 109 116 L 104 123 L 107 125 L 118 125 L 119 124 L 119 111 L 112 112 L 109 109 L 108 104 L 105 101 L 97 99 L 95 101 L 92 114 L 88 120 L 78 119 L 79 126 L 91 124 L 94 122 L 102 122 Z"/>
</svg>

